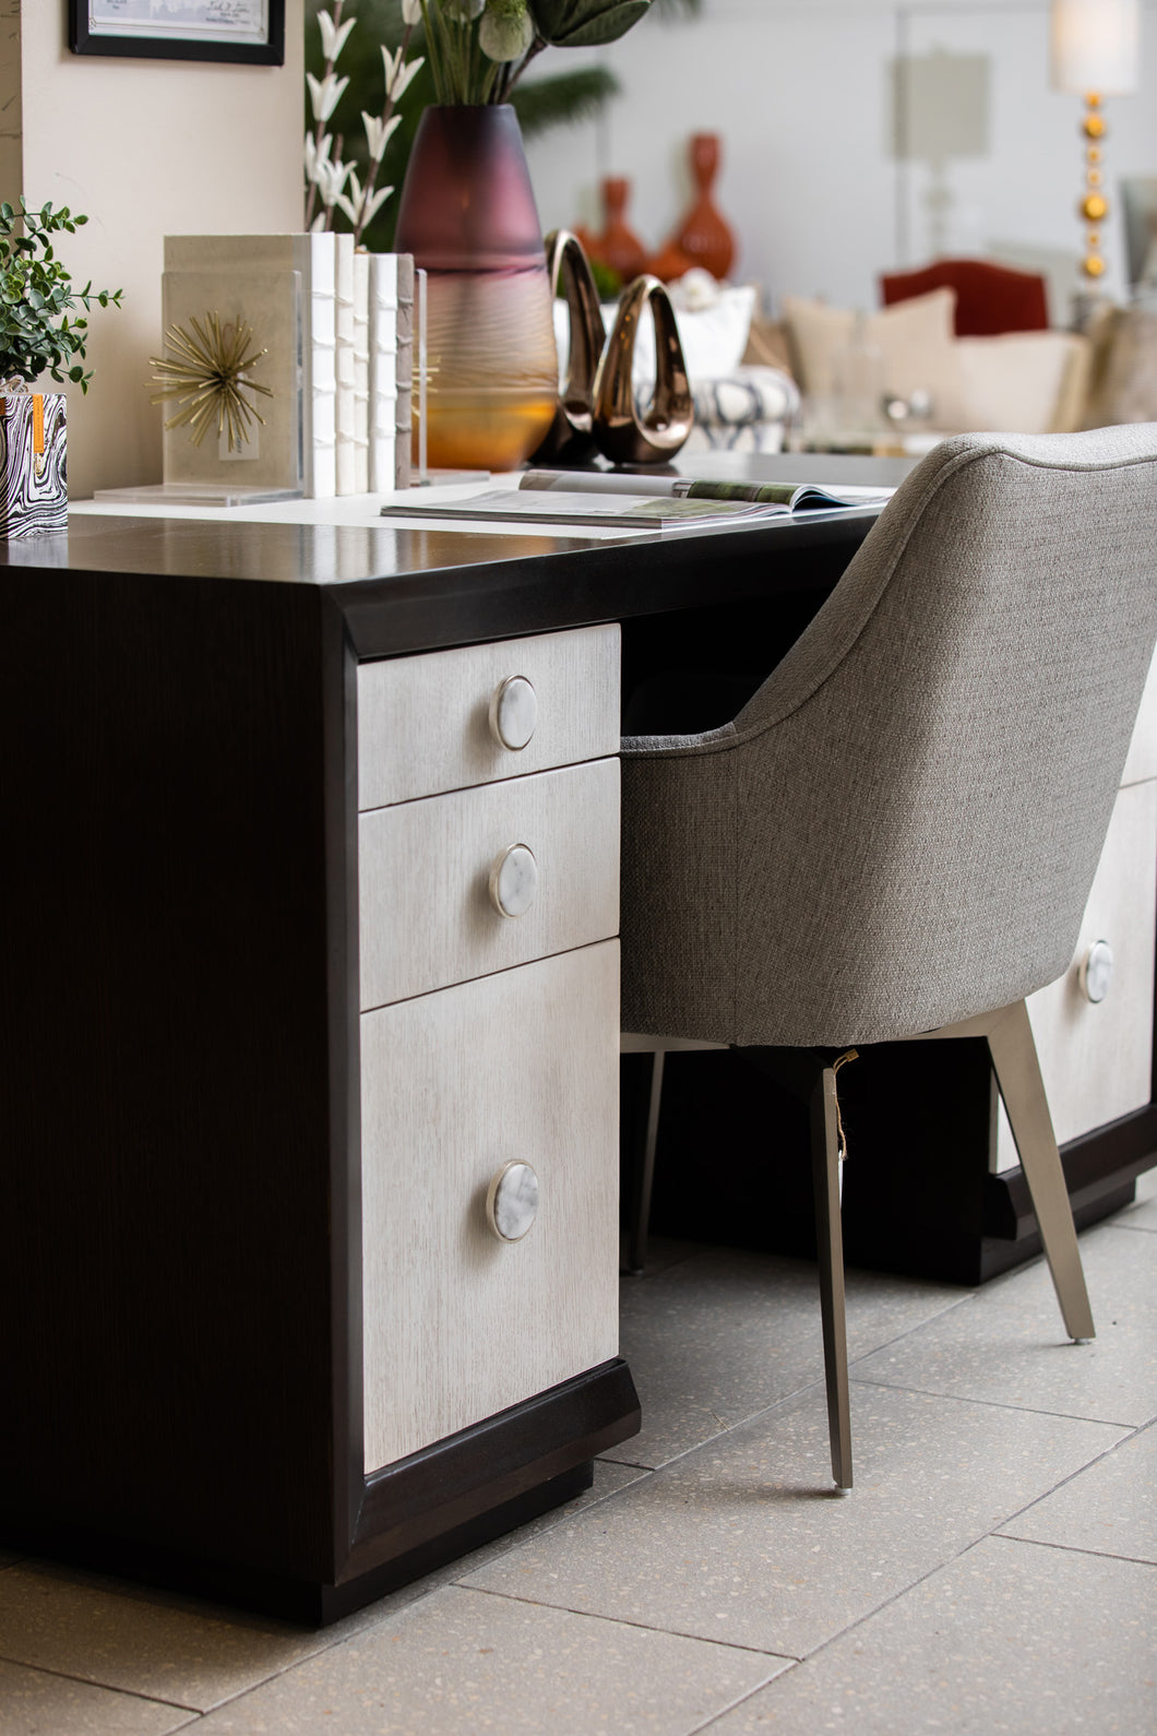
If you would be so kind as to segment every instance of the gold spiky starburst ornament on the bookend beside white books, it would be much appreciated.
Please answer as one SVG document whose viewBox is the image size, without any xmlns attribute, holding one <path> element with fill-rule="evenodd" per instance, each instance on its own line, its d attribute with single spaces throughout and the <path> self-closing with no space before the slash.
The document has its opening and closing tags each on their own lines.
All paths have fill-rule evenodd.
<svg viewBox="0 0 1157 1736">
<path fill-rule="evenodd" d="M 243 389 L 272 398 L 267 385 L 246 378 L 246 370 L 267 351 L 250 347 L 253 328 L 246 319 L 222 325 L 219 314 L 205 314 L 203 321 L 191 318 L 191 333 L 179 325 L 168 328 L 165 342 L 177 352 L 175 359 L 149 356 L 156 368 L 153 378 L 165 384 L 165 391 L 154 392 L 149 403 L 160 404 L 175 398 L 180 410 L 165 422 L 165 427 L 191 427 L 194 446 L 201 444 L 217 422 L 217 434 L 229 437 L 229 451 L 241 451 L 250 441 L 253 424 L 265 425 L 265 418 L 243 396 Z"/>
</svg>

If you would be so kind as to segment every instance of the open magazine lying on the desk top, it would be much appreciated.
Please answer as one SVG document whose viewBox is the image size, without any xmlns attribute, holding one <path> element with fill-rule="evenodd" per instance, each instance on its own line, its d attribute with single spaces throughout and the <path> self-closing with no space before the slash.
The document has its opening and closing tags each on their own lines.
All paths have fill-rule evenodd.
<svg viewBox="0 0 1157 1736">
<path fill-rule="evenodd" d="M 408 500 L 389 517 L 501 519 L 619 529 L 713 528 L 833 507 L 881 507 L 892 488 L 822 483 L 708 483 L 619 470 L 527 470 L 517 488 L 489 488 L 453 502 Z"/>
</svg>

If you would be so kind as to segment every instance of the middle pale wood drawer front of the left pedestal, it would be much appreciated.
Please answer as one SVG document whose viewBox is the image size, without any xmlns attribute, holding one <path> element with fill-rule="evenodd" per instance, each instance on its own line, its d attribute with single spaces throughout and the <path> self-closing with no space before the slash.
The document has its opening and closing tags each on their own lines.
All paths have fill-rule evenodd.
<svg viewBox="0 0 1157 1736">
<path fill-rule="evenodd" d="M 619 762 L 378 807 L 359 819 L 357 871 L 363 1012 L 605 941 Z"/>
</svg>

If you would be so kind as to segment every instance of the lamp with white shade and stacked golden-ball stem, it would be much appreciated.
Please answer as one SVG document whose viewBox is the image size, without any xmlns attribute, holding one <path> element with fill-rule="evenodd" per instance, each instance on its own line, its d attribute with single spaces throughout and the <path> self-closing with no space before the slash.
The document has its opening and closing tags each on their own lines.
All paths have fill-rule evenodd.
<svg viewBox="0 0 1157 1736">
<path fill-rule="evenodd" d="M 1100 226 L 1108 217 L 1101 101 L 1136 90 L 1140 0 L 1053 0 L 1049 23 L 1053 89 L 1084 97 L 1086 170 L 1079 210 L 1088 231 L 1081 271 L 1096 279 L 1105 274 Z"/>
</svg>

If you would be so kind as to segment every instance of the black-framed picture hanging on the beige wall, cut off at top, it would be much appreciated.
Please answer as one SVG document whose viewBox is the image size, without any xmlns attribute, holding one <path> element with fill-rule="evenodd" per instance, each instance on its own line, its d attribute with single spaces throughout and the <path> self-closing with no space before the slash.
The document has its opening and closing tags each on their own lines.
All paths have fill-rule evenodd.
<svg viewBox="0 0 1157 1736">
<path fill-rule="evenodd" d="M 68 0 L 73 54 L 284 64 L 284 0 Z"/>
</svg>

